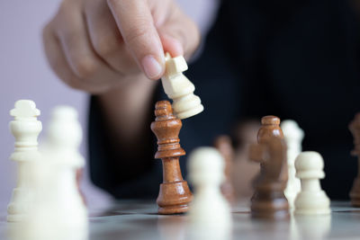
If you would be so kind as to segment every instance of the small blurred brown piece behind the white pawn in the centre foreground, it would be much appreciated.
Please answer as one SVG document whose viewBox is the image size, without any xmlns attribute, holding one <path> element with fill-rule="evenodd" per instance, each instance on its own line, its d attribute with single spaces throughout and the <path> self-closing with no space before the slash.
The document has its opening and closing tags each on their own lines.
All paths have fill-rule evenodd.
<svg viewBox="0 0 360 240">
<path fill-rule="evenodd" d="M 221 192 L 230 204 L 235 202 L 235 191 L 231 183 L 232 161 L 234 159 L 234 148 L 231 138 L 227 135 L 220 135 L 214 141 L 216 147 L 225 161 L 225 181 L 221 184 Z"/>
</svg>

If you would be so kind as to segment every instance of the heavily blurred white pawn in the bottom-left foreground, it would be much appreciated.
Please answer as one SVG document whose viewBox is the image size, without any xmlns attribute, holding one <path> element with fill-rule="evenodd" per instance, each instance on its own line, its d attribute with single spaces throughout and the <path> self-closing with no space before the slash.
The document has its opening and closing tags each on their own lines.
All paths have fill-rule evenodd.
<svg viewBox="0 0 360 240">
<path fill-rule="evenodd" d="M 14 240 L 85 240 L 87 225 L 85 221 L 78 224 L 72 212 L 65 209 L 58 201 L 57 181 L 58 165 L 48 159 L 42 159 L 29 168 L 29 184 L 34 192 L 34 199 L 28 218 L 9 229 Z M 73 200 L 71 196 L 69 200 Z M 61 212 L 59 214 L 59 212 Z M 75 212 L 75 218 L 77 214 Z"/>
</svg>

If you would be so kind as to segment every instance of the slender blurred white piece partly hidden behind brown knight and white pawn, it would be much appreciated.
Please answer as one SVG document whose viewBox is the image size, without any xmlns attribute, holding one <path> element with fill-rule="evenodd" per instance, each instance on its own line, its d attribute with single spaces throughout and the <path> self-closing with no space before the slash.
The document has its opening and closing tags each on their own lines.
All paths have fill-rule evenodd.
<svg viewBox="0 0 360 240">
<path fill-rule="evenodd" d="M 294 120 L 284 120 L 281 124 L 287 147 L 288 182 L 284 194 L 293 209 L 293 201 L 301 190 L 300 180 L 295 177 L 295 158 L 302 152 L 302 139 L 304 132 Z"/>
</svg>

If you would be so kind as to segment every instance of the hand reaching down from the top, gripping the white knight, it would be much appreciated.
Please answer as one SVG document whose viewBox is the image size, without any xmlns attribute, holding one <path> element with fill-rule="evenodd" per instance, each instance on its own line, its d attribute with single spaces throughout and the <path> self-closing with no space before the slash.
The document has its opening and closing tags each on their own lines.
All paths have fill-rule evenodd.
<svg viewBox="0 0 360 240">
<path fill-rule="evenodd" d="M 174 0 L 63 0 L 43 31 L 50 67 L 68 85 L 105 93 L 164 74 L 164 52 L 189 57 L 195 24 Z"/>
</svg>

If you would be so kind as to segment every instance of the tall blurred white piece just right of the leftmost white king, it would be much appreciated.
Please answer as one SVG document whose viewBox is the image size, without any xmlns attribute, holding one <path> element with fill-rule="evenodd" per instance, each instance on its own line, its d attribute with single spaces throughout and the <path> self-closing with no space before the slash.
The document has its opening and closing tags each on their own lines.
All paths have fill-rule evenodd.
<svg viewBox="0 0 360 240">
<path fill-rule="evenodd" d="M 82 129 L 76 110 L 68 106 L 56 107 L 46 133 L 41 150 L 52 173 L 49 206 L 56 206 L 52 216 L 59 225 L 86 226 L 87 211 L 76 183 L 76 171 L 85 165 L 78 151 Z"/>
</svg>

